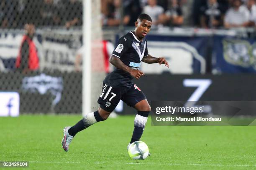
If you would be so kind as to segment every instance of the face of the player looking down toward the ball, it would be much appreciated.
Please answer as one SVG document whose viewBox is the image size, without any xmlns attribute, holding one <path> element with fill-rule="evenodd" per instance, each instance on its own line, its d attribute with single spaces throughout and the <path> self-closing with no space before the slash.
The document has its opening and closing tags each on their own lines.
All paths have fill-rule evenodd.
<svg viewBox="0 0 256 170">
<path fill-rule="evenodd" d="M 148 20 L 138 20 L 135 22 L 135 34 L 140 38 L 143 39 L 147 33 L 150 31 L 150 28 L 152 26 L 152 22 Z"/>
</svg>

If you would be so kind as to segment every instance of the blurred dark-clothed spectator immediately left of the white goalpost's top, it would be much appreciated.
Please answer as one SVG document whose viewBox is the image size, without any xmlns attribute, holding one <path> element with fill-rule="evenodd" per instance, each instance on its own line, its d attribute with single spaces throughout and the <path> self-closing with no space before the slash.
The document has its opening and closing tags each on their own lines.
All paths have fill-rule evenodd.
<svg viewBox="0 0 256 170">
<path fill-rule="evenodd" d="M 78 0 L 62 0 L 60 17 L 64 20 L 66 28 L 82 25 L 83 5 Z"/>
</svg>

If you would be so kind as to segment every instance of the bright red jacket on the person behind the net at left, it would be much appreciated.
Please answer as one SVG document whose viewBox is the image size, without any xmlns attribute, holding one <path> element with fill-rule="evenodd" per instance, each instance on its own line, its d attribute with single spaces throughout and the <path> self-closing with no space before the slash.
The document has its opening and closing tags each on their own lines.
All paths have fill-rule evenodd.
<svg viewBox="0 0 256 170">
<path fill-rule="evenodd" d="M 19 51 L 18 57 L 16 59 L 15 66 L 16 66 L 16 68 L 20 67 L 21 48 L 22 48 L 24 41 L 27 41 L 28 46 L 29 46 L 28 69 L 29 70 L 37 70 L 39 68 L 39 59 L 38 59 L 38 55 L 37 55 L 36 45 L 34 44 L 33 40 L 31 40 L 30 37 L 28 37 L 28 35 L 23 36 L 23 39 L 22 39 L 22 42 L 20 45 L 20 51 Z M 26 60 L 26 59 L 23 58 L 23 60 Z"/>
</svg>

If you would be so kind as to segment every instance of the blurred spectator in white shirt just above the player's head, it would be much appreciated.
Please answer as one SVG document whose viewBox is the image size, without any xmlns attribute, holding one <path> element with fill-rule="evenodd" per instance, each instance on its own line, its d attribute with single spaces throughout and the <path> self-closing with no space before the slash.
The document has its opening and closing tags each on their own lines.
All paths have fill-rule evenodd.
<svg viewBox="0 0 256 170">
<path fill-rule="evenodd" d="M 159 24 L 159 15 L 164 13 L 164 8 L 156 4 L 157 0 L 148 0 L 148 5 L 143 8 L 143 13 L 152 18 L 153 26 Z"/>
</svg>

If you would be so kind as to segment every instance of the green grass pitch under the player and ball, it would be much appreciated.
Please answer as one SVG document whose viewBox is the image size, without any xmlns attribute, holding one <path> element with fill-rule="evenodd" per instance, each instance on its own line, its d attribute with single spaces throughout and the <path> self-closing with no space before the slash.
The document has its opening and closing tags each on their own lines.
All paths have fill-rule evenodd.
<svg viewBox="0 0 256 170">
<path fill-rule="evenodd" d="M 0 161 L 29 161 L 27 169 L 35 170 L 256 169 L 256 126 L 151 126 L 149 118 L 141 140 L 151 156 L 136 161 L 126 150 L 134 116 L 92 125 L 78 133 L 64 152 L 62 128 L 80 118 L 0 117 Z"/>
</svg>

